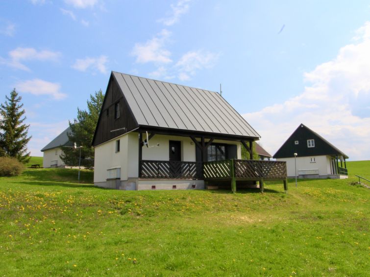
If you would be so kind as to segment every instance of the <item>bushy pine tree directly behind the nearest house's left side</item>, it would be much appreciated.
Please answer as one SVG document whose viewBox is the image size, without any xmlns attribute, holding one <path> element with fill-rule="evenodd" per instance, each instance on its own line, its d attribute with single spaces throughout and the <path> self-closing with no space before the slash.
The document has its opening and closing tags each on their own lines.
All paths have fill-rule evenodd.
<svg viewBox="0 0 370 277">
<path fill-rule="evenodd" d="M 70 121 L 71 133 L 67 134 L 69 141 L 75 142 L 81 148 L 81 159 L 94 159 L 94 148 L 91 146 L 95 128 L 98 123 L 99 113 L 103 104 L 104 94 L 99 90 L 90 94 L 87 100 L 87 110 L 77 108 L 77 119 Z M 62 147 L 63 153 L 60 158 L 68 165 L 78 165 L 79 151 L 70 147 Z M 84 162 L 82 161 L 81 164 Z"/>
</svg>

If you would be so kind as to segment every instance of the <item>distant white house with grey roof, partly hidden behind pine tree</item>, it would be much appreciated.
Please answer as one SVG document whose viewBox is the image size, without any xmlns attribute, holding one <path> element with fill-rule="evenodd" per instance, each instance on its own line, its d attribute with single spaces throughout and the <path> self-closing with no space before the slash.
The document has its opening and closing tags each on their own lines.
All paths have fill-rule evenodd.
<svg viewBox="0 0 370 277">
<path fill-rule="evenodd" d="M 69 141 L 67 133 L 71 132 L 71 128 L 68 127 L 56 138 L 51 140 L 41 152 L 44 152 L 43 167 L 63 167 L 65 166 L 60 155 L 63 153 L 61 146 L 74 146 L 72 142 Z"/>
</svg>

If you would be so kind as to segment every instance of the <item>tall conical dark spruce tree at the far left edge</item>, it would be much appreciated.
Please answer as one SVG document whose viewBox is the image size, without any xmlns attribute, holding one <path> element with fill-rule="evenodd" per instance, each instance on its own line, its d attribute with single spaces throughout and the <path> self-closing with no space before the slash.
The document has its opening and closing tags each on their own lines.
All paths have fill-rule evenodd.
<svg viewBox="0 0 370 277">
<path fill-rule="evenodd" d="M 0 105 L 0 156 L 14 157 L 20 162 L 28 162 L 27 137 L 29 125 L 23 124 L 26 117 L 22 109 L 22 97 L 14 89 L 10 97 L 5 95 L 5 103 Z"/>
</svg>

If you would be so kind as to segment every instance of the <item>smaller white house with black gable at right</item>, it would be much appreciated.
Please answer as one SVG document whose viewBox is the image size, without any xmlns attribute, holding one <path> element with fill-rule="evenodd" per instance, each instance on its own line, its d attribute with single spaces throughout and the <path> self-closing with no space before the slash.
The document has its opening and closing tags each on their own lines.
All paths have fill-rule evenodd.
<svg viewBox="0 0 370 277">
<path fill-rule="evenodd" d="M 298 126 L 273 158 L 287 162 L 289 177 L 297 174 L 299 178 L 348 178 L 345 164 L 348 156 L 303 124 Z"/>
</svg>

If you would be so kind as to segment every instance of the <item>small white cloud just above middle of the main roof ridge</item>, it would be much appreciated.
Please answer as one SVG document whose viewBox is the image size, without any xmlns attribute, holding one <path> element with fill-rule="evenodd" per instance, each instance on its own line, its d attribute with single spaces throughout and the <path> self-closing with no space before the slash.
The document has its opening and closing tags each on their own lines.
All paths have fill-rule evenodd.
<svg viewBox="0 0 370 277">
<path fill-rule="evenodd" d="M 178 70 L 178 78 L 182 81 L 189 80 L 194 76 L 197 70 L 212 68 L 219 54 L 211 53 L 208 51 L 189 51 L 182 55 L 179 61 L 175 64 Z"/>
</svg>

